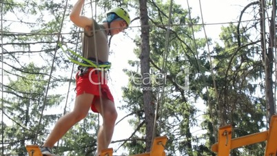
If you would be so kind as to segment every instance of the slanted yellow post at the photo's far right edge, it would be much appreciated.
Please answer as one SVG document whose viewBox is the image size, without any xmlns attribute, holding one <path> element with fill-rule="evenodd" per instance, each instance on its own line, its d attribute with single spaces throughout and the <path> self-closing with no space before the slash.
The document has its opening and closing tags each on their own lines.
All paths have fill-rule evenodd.
<svg viewBox="0 0 277 156">
<path fill-rule="evenodd" d="M 277 115 L 273 115 L 269 124 L 269 133 L 267 136 L 267 146 L 265 156 L 276 156 L 277 150 Z"/>
</svg>

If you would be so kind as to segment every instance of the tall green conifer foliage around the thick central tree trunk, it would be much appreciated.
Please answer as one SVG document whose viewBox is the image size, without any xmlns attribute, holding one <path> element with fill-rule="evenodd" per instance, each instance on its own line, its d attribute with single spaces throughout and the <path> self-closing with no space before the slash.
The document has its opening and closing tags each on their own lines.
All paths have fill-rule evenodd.
<svg viewBox="0 0 277 156">
<path fill-rule="evenodd" d="M 155 1 L 155 3 L 150 2 L 150 8 L 148 12 L 151 24 L 156 25 L 156 27 L 150 27 L 151 90 L 154 96 L 153 104 L 157 102 L 161 104 L 156 121 L 156 136 L 166 135 L 169 137 L 169 141 L 167 142 L 167 155 L 192 155 L 194 151 L 192 140 L 194 140 L 194 137 L 189 127 L 196 126 L 195 115 L 198 110 L 188 102 L 187 92 L 184 92 L 185 90 L 180 87 L 186 82 L 181 77 L 178 78 L 177 75 L 192 66 L 191 64 L 197 64 L 197 59 L 194 54 L 194 41 L 191 38 L 193 32 L 188 27 L 172 26 L 169 39 L 170 46 L 167 52 L 165 40 L 167 26 L 165 25 L 168 21 L 169 3 L 162 3 L 161 1 Z M 187 19 L 187 10 L 183 10 L 181 6 L 176 4 L 174 4 L 173 8 L 172 24 L 178 25 L 179 23 L 189 21 Z M 197 21 L 197 18 L 192 20 L 192 22 L 196 23 Z M 194 30 L 198 31 L 200 27 L 196 26 Z M 196 39 L 196 42 L 199 48 L 205 46 L 203 39 Z M 167 57 L 165 62 L 163 55 L 166 52 Z M 135 53 L 139 55 L 139 50 L 136 50 Z M 169 74 L 167 74 L 166 81 L 163 81 L 164 75 L 162 69 L 165 63 L 167 73 Z M 130 65 L 136 68 L 140 64 L 139 62 L 130 61 Z M 143 79 L 134 79 L 135 75 L 140 75 L 139 70 L 126 70 L 126 74 L 130 76 L 130 83 L 127 88 L 123 88 L 123 97 L 126 102 L 123 108 L 134 113 L 134 119 L 130 119 L 129 122 L 136 129 L 134 135 L 130 137 L 132 140 L 144 140 L 143 137 L 139 137 L 145 133 L 145 125 L 141 126 L 143 121 L 145 121 L 144 115 L 135 113 L 138 110 L 143 110 L 143 88 L 138 85 L 143 83 Z M 165 83 L 165 95 L 163 95 L 164 99 L 162 104 L 161 99 L 159 99 L 160 97 L 157 97 L 157 95 L 158 92 L 162 92 L 163 83 Z M 141 146 L 141 142 L 139 141 L 127 143 L 125 147 L 130 149 L 130 155 L 140 153 L 144 150 L 138 149 L 138 147 L 144 147 Z"/>
</svg>

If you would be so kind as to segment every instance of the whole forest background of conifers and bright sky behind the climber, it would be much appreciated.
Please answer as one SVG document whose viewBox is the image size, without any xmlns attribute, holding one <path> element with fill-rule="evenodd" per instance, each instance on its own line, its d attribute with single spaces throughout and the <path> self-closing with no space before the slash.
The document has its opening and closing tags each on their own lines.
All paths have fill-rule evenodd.
<svg viewBox="0 0 277 156">
<path fill-rule="evenodd" d="M 76 65 L 58 43 L 81 52 L 73 3 L 1 1 L 1 155 L 26 155 L 25 145 L 42 144 L 72 110 Z M 114 6 L 134 19 L 110 48 L 115 153 L 144 153 L 153 137 L 167 136 L 166 155 L 216 155 L 220 126 L 232 125 L 232 137 L 268 129 L 276 112 L 276 1 L 99 0 L 86 1 L 83 14 L 103 21 Z M 89 113 L 55 153 L 95 155 L 99 124 Z M 231 154 L 264 151 L 265 142 Z"/>
</svg>

